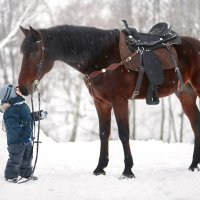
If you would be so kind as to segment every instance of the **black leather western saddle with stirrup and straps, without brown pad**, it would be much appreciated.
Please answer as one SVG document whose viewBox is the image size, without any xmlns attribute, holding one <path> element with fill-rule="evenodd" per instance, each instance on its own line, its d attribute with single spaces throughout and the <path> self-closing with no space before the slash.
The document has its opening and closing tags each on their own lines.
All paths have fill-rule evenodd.
<svg viewBox="0 0 200 200">
<path fill-rule="evenodd" d="M 132 98 L 139 94 L 138 87 L 140 87 L 142 82 L 142 73 L 145 72 L 149 80 L 146 102 L 150 105 L 158 104 L 159 98 L 157 96 L 157 87 L 164 82 L 163 69 L 165 68 L 165 66 L 163 66 L 163 59 L 161 59 L 158 54 L 160 53 L 163 55 L 163 52 L 165 52 L 165 60 L 166 57 L 168 57 L 167 60 L 170 60 L 169 62 L 172 62 L 172 65 L 175 68 L 177 55 L 176 52 L 174 54 L 175 49 L 170 46 L 180 44 L 181 39 L 179 35 L 171 29 L 170 24 L 166 22 L 160 22 L 154 25 L 148 33 L 140 33 L 135 28 L 129 27 L 125 20 L 122 21 L 125 24 L 125 28 L 121 31 L 125 35 L 126 45 L 131 52 L 136 52 L 136 58 L 139 60 L 139 76 L 136 83 L 137 88 L 135 89 L 135 94 L 132 95 Z M 121 57 L 123 57 L 122 53 Z"/>
</svg>

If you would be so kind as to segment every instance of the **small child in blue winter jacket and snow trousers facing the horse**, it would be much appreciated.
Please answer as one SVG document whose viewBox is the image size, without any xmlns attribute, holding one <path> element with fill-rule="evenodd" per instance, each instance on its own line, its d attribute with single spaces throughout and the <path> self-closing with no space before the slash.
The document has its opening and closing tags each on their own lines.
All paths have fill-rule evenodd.
<svg viewBox="0 0 200 200">
<path fill-rule="evenodd" d="M 10 182 L 17 182 L 19 176 L 29 178 L 32 175 L 33 119 L 21 95 L 19 88 L 11 84 L 0 87 L 0 109 L 4 113 L 3 120 L 9 153 L 5 179 Z M 45 114 L 47 115 L 47 112 Z"/>
</svg>

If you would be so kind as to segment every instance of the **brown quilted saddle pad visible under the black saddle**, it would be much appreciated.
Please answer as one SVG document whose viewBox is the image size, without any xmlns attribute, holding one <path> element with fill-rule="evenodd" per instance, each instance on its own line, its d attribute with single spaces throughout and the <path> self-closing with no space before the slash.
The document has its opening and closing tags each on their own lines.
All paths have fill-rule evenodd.
<svg viewBox="0 0 200 200">
<path fill-rule="evenodd" d="M 123 32 L 120 32 L 119 50 L 122 60 L 126 60 L 128 57 L 131 56 L 131 60 L 124 63 L 125 67 L 131 71 L 139 71 L 140 55 L 137 52 L 132 52 L 129 50 L 126 44 L 125 34 Z M 177 53 L 173 46 L 171 46 L 171 50 L 177 61 L 178 60 Z M 166 48 L 155 49 L 153 52 L 159 58 L 164 70 L 175 68 L 174 63 L 170 57 L 170 54 Z"/>
</svg>

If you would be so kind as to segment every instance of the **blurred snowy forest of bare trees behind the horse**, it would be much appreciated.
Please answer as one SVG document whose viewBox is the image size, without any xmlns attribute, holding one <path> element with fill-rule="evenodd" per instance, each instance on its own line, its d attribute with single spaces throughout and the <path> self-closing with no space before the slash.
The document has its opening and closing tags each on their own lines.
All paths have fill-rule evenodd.
<svg viewBox="0 0 200 200">
<path fill-rule="evenodd" d="M 199 0 L 0 0 L 0 84 L 17 84 L 24 38 L 19 25 L 121 29 L 121 19 L 141 32 L 167 21 L 180 35 L 200 37 Z M 49 113 L 41 123 L 44 134 L 57 142 L 98 139 L 96 110 L 78 72 L 57 62 L 41 81 L 40 89 L 42 108 Z M 130 101 L 129 106 L 131 139 L 193 142 L 189 121 L 174 95 L 161 99 L 157 106 L 147 106 L 145 100 Z M 111 139 L 118 139 L 114 117 Z"/>
</svg>

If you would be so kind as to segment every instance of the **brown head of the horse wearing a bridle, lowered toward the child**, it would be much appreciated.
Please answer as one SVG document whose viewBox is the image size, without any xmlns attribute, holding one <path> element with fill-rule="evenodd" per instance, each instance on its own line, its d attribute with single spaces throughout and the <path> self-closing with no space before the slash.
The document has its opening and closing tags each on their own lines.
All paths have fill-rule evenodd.
<svg viewBox="0 0 200 200">
<path fill-rule="evenodd" d="M 45 50 L 44 37 L 38 30 L 30 30 L 20 26 L 25 35 L 21 45 L 23 54 L 18 84 L 23 95 L 34 92 L 36 84 L 53 66 L 53 61 L 48 58 Z"/>
</svg>

